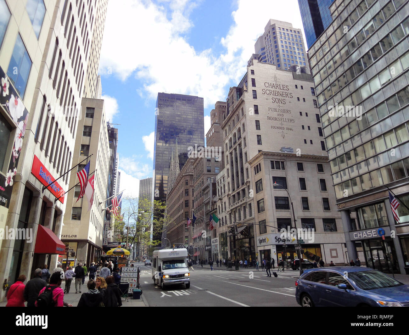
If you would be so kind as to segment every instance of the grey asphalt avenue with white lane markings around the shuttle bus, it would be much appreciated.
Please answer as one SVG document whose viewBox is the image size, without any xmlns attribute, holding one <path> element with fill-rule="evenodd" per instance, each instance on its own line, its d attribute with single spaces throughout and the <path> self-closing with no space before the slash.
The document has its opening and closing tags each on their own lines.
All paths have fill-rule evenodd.
<svg viewBox="0 0 409 335">
<path fill-rule="evenodd" d="M 298 271 L 270 278 L 262 271 L 210 271 L 195 266 L 189 289 L 182 284 L 162 290 L 153 284 L 151 266 L 137 266 L 149 306 L 299 306 L 295 301 L 296 279 L 292 278 Z"/>
</svg>

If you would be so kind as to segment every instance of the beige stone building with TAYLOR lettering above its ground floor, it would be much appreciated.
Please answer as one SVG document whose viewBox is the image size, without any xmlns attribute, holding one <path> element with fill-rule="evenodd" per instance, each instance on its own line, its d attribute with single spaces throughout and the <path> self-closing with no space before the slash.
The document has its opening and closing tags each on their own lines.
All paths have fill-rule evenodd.
<svg viewBox="0 0 409 335">
<path fill-rule="evenodd" d="M 83 98 L 81 114 L 85 117 L 79 120 L 72 165 L 81 163 L 75 169 L 81 171 L 88 160 L 82 161 L 92 154 L 89 176 L 95 171 L 94 198 L 90 210 L 87 196 L 77 201 L 81 187 L 78 178 L 74 176 L 71 178 L 69 187 L 74 189 L 66 193 L 67 209 L 64 214 L 61 241 L 68 243 L 74 253 L 70 255 L 73 260 L 90 264 L 99 261 L 102 254 L 106 213 L 102 211 L 105 202 L 101 205 L 99 203 L 107 198 L 110 149 L 104 101 Z"/>
</svg>

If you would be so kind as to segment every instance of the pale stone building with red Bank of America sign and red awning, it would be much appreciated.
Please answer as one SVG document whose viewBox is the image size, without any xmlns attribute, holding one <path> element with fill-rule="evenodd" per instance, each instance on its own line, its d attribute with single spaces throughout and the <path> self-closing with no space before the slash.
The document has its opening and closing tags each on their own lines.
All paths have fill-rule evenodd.
<svg viewBox="0 0 409 335">
<path fill-rule="evenodd" d="M 2 283 L 14 283 L 19 274 L 30 278 L 44 264 L 54 268 L 65 253 L 62 243 L 51 241 L 61 236 L 64 191 L 76 172 L 67 173 L 86 69 L 99 63 L 87 48 L 105 18 L 96 18 L 94 8 L 94 1 L 0 0 L 1 131 L 8 135 L 2 136 L 1 225 L 32 237 L 2 240 Z"/>
</svg>

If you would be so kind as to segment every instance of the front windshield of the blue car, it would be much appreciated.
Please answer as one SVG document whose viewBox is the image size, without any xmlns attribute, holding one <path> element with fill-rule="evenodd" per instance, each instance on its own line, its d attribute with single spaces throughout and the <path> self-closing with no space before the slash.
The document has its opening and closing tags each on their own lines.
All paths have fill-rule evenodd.
<svg viewBox="0 0 409 335">
<path fill-rule="evenodd" d="M 387 276 L 377 270 L 348 272 L 348 279 L 355 282 L 355 285 L 362 290 L 375 290 L 403 285 L 399 281 Z"/>
</svg>

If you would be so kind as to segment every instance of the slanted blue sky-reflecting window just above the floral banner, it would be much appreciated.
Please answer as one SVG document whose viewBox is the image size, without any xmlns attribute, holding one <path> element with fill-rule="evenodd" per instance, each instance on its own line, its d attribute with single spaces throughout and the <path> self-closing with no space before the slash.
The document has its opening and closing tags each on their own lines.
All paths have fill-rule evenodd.
<svg viewBox="0 0 409 335">
<path fill-rule="evenodd" d="M 23 99 L 27 86 L 28 76 L 31 70 L 31 59 L 27 49 L 21 39 L 20 34 L 17 35 L 16 44 L 14 45 L 13 54 L 11 55 L 7 76 L 20 97 Z"/>
</svg>

